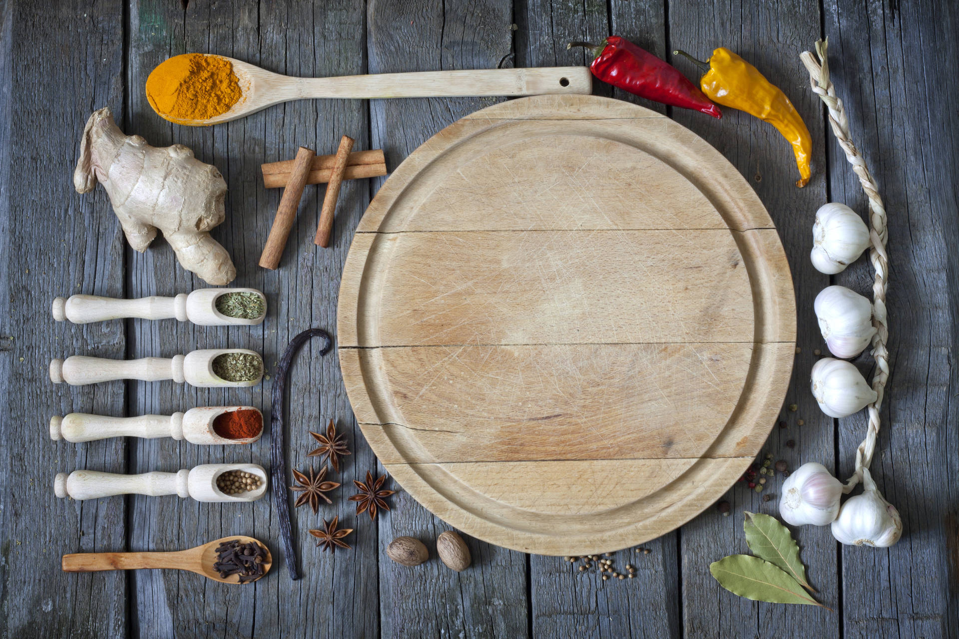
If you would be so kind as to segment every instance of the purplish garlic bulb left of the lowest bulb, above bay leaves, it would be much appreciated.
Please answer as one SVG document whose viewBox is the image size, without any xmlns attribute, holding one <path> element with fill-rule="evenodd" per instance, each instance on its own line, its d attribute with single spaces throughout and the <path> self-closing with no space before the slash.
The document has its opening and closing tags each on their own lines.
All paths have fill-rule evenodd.
<svg viewBox="0 0 959 639">
<path fill-rule="evenodd" d="M 842 484 L 822 464 L 796 468 L 783 484 L 780 515 L 793 526 L 825 526 L 839 513 Z"/>
</svg>

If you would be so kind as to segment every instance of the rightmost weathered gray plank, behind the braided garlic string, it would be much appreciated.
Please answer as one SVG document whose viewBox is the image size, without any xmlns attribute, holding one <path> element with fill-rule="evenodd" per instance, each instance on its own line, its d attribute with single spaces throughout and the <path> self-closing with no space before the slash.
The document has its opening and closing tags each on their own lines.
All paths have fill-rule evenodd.
<svg viewBox="0 0 959 639">
<path fill-rule="evenodd" d="M 825 7 L 832 80 L 889 217 L 892 377 L 872 472 L 904 526 L 902 540 L 888 550 L 842 548 L 844 635 L 955 636 L 959 460 L 938 453 L 959 450 L 952 401 L 959 393 L 952 366 L 959 128 L 940 104 L 953 103 L 959 91 L 947 62 L 957 53 L 951 34 L 959 16 L 935 2 L 902 3 L 899 11 L 881 2 L 840 0 Z M 866 198 L 831 139 L 830 157 L 832 199 L 865 212 Z M 863 259 L 834 282 L 871 296 L 872 279 Z M 857 363 L 871 378 L 873 358 L 866 354 Z M 838 466 L 845 478 L 865 417 L 839 422 Z"/>
</svg>

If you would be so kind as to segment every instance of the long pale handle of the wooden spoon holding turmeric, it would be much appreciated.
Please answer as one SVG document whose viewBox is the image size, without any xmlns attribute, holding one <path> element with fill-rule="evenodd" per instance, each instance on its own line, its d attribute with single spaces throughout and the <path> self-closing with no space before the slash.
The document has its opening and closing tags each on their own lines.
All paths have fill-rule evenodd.
<svg viewBox="0 0 959 639">
<path fill-rule="evenodd" d="M 339 78 L 298 78 L 300 98 L 451 98 L 457 96 L 538 96 L 593 91 L 584 66 L 538 69 L 419 71 Z"/>
</svg>

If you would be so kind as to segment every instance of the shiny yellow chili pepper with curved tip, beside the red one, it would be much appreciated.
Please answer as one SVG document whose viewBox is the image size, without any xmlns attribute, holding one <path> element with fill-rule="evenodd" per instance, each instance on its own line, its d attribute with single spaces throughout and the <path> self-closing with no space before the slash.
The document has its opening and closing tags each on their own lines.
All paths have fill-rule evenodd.
<svg viewBox="0 0 959 639">
<path fill-rule="evenodd" d="M 689 57 L 705 67 L 706 63 L 683 51 L 674 55 Z M 713 51 L 709 59 L 709 71 L 699 80 L 703 93 L 714 103 L 730 106 L 756 116 L 775 126 L 792 145 L 800 179 L 797 187 L 805 187 L 809 181 L 809 158 L 812 155 L 812 137 L 796 107 L 785 97 L 782 89 L 766 80 L 759 69 L 738 57 L 725 47 Z"/>
</svg>

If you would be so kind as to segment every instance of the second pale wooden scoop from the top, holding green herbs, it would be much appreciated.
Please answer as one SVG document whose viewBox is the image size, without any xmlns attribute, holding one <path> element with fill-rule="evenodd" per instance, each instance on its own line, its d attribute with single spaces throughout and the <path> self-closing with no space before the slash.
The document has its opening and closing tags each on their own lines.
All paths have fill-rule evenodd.
<svg viewBox="0 0 959 639">
<path fill-rule="evenodd" d="M 173 357 L 144 357 L 143 359 L 105 359 L 72 355 L 50 361 L 50 379 L 55 384 L 66 382 L 72 386 L 96 384 L 114 379 L 143 379 L 158 381 L 173 379 L 201 388 L 225 388 L 254 386 L 263 377 L 263 358 L 260 357 L 260 374 L 247 381 L 228 381 L 213 372 L 213 360 L 219 355 L 246 353 L 260 357 L 246 349 L 200 349 Z"/>
</svg>

